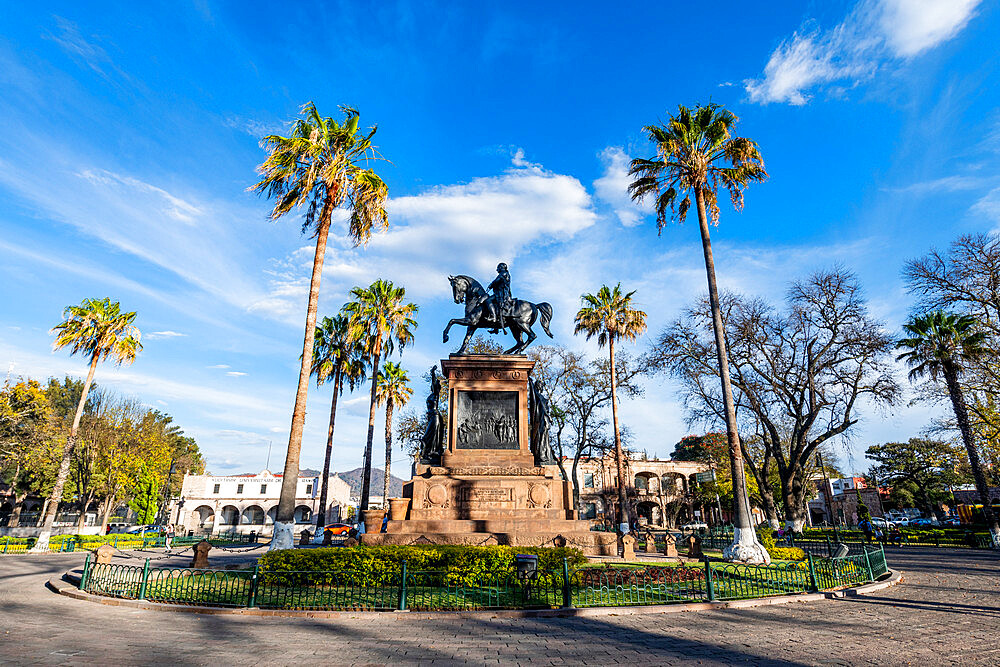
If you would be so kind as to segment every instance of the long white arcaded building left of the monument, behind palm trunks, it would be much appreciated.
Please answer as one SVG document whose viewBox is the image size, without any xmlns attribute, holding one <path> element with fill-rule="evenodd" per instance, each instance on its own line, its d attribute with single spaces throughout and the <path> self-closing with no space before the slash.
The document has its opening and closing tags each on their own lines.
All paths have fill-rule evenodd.
<svg viewBox="0 0 1000 667">
<path fill-rule="evenodd" d="M 181 497 L 171 502 L 170 520 L 194 533 L 256 532 L 269 535 L 278 512 L 280 474 L 263 470 L 247 475 L 185 475 Z M 315 525 L 319 510 L 320 477 L 300 476 L 295 492 L 295 523 L 300 532 Z M 351 488 L 330 476 L 326 522 L 338 521 L 350 504 Z"/>
</svg>

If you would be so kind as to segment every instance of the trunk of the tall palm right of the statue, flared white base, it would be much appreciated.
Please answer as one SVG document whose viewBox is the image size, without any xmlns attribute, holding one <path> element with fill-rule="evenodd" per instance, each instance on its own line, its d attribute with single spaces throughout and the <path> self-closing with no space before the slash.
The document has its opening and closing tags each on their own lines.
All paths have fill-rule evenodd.
<svg viewBox="0 0 1000 667">
<path fill-rule="evenodd" d="M 708 216 L 705 212 L 705 193 L 694 189 L 698 205 L 698 226 L 701 230 L 701 247 L 705 254 L 705 273 L 708 275 L 708 300 L 712 308 L 712 328 L 715 330 L 715 351 L 722 379 L 722 405 L 726 417 L 726 436 L 729 440 L 729 462 L 733 476 L 733 543 L 723 551 L 730 561 L 770 563 L 771 558 L 757 540 L 750 521 L 750 496 L 747 493 L 746 473 L 743 470 L 743 451 L 736 430 L 736 407 L 733 388 L 729 381 L 729 357 L 726 352 L 726 332 L 719 306 L 719 288 L 715 282 L 715 260 L 712 258 L 712 241 L 708 234 Z"/>
</svg>

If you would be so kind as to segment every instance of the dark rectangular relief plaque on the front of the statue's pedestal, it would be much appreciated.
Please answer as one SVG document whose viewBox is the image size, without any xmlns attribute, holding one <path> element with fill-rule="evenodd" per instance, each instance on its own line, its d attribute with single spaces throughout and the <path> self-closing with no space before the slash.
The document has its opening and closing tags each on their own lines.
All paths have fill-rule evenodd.
<svg viewBox="0 0 1000 667">
<path fill-rule="evenodd" d="M 516 391 L 459 391 L 457 449 L 520 449 Z"/>
</svg>

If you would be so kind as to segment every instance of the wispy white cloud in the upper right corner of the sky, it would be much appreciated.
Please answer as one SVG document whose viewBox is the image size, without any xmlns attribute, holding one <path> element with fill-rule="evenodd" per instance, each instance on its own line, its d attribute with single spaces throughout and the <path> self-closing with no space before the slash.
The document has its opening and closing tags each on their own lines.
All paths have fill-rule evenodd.
<svg viewBox="0 0 1000 667">
<path fill-rule="evenodd" d="M 771 54 L 764 76 L 744 81 L 750 100 L 805 104 L 822 84 L 854 85 L 879 67 L 955 35 L 980 0 L 860 0 L 829 30 L 802 29 Z"/>
</svg>

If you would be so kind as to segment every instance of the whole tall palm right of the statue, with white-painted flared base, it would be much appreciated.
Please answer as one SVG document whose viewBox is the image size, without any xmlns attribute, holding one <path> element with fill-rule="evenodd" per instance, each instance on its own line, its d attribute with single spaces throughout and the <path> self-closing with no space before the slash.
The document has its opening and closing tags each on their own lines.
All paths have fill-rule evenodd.
<svg viewBox="0 0 1000 667">
<path fill-rule="evenodd" d="M 629 184 L 632 199 L 653 197 L 656 224 L 663 231 L 667 221 L 683 222 L 691 208 L 694 194 L 701 229 L 701 245 L 708 274 L 708 298 L 712 308 L 712 327 L 719 375 L 722 378 L 722 403 L 729 440 L 729 460 L 733 474 L 733 544 L 723 551 L 731 561 L 769 563 L 770 556 L 754 532 L 747 493 L 743 452 L 736 430 L 736 408 L 729 382 L 729 359 L 726 353 L 725 329 L 719 307 L 719 290 L 715 282 L 715 261 L 708 234 L 708 221 L 719 222 L 718 190 L 729 191 L 733 207 L 743 208 L 743 190 L 752 182 L 767 178 L 764 160 L 757 144 L 745 137 L 732 136 L 736 116 L 717 104 L 689 109 L 677 108 L 677 114 L 661 125 L 647 125 L 644 131 L 656 144 L 656 156 L 648 160 L 632 160 Z"/>
</svg>

